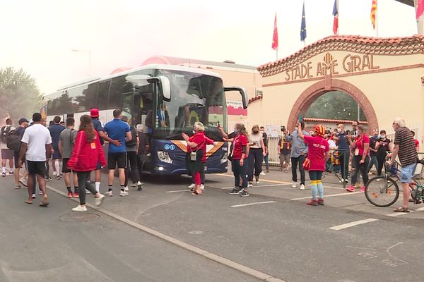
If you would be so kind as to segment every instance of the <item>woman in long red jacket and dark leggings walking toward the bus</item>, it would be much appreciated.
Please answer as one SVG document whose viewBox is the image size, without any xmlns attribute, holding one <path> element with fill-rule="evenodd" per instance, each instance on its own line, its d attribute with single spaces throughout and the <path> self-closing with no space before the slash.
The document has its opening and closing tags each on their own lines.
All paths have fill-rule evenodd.
<svg viewBox="0 0 424 282">
<path fill-rule="evenodd" d="M 91 117 L 83 115 L 80 118 L 80 128 L 76 135 L 75 146 L 71 159 L 68 161 L 68 168 L 76 171 L 78 176 L 78 187 L 80 204 L 74 207 L 73 212 L 86 212 L 86 189 L 93 193 L 95 197 L 95 204 L 100 206 L 105 195 L 100 194 L 95 190 L 93 185 L 87 181 L 91 171 L 95 171 L 98 163 L 102 167 L 106 166 L 105 153 L 103 152 L 102 145 L 98 133 L 93 128 Z M 84 189 L 84 187 L 86 189 Z"/>
</svg>

